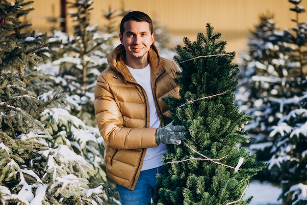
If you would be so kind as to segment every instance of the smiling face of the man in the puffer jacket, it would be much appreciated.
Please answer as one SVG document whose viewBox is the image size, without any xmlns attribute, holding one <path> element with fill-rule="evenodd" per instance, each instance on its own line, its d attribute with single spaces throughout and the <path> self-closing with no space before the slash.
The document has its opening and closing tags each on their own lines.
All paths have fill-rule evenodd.
<svg viewBox="0 0 307 205">
<path fill-rule="evenodd" d="M 153 44 L 154 33 L 151 33 L 149 23 L 127 21 L 124 23 L 124 33 L 120 40 L 126 50 L 126 59 L 146 60 L 148 51 Z"/>
</svg>

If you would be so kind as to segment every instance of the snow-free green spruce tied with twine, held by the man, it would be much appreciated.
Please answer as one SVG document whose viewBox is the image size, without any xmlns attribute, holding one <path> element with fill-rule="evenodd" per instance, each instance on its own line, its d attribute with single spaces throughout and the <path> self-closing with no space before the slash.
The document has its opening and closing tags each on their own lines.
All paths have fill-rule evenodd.
<svg viewBox="0 0 307 205">
<path fill-rule="evenodd" d="M 176 48 L 180 98 L 164 100 L 174 123 L 185 125 L 188 134 L 181 145 L 168 146 L 154 204 L 246 205 L 252 199 L 243 200 L 250 178 L 266 166 L 237 146 L 249 141 L 242 125 L 251 118 L 234 105 L 239 69 L 220 36 L 207 24 L 205 35 L 193 43 L 184 38 L 184 47 Z"/>
</svg>

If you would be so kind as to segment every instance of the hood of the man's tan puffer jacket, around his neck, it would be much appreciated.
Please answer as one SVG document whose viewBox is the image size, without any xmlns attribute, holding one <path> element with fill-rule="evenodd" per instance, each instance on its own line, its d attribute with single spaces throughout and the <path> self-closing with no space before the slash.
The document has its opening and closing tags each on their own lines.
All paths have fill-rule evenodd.
<svg viewBox="0 0 307 205">
<path fill-rule="evenodd" d="M 125 78 L 125 80 L 131 81 L 132 75 L 130 74 L 128 68 L 126 67 L 124 61 L 125 55 L 126 55 L 125 47 L 122 44 L 120 44 L 108 55 L 107 62 L 109 66 L 112 69 L 114 69 L 117 73 L 120 73 Z M 154 43 L 152 44 L 148 52 L 148 58 L 152 68 L 159 67 L 158 65 L 161 63 L 161 58 Z M 153 73 L 155 75 L 160 72 L 161 71 L 159 70 L 153 70 Z"/>
</svg>

